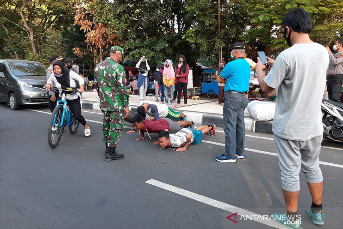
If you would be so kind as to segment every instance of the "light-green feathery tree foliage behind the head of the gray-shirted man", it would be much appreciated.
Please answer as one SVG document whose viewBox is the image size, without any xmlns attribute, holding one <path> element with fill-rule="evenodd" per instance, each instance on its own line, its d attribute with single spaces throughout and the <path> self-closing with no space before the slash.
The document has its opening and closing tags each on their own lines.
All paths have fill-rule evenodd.
<svg viewBox="0 0 343 229">
<path fill-rule="evenodd" d="M 338 36 L 342 37 L 343 0 L 254 0 L 248 4 L 253 19 L 246 39 L 268 45 L 275 53 L 285 49 L 287 44 L 280 24 L 284 15 L 295 7 L 303 8 L 311 15 L 314 29 L 310 37 L 315 42 L 329 45 Z"/>
</svg>

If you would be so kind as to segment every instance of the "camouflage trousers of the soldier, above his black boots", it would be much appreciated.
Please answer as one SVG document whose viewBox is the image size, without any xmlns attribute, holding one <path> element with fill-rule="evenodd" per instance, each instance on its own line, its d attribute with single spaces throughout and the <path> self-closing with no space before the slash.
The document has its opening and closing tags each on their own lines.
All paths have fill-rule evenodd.
<svg viewBox="0 0 343 229">
<path fill-rule="evenodd" d="M 108 147 L 116 147 L 120 141 L 121 131 L 125 127 L 125 111 L 103 111 L 103 142 Z"/>
</svg>

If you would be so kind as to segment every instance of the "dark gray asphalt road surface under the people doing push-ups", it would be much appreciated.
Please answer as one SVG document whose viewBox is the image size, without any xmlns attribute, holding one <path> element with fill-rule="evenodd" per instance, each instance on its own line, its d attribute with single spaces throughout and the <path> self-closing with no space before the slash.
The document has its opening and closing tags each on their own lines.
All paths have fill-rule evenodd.
<svg viewBox="0 0 343 229">
<path fill-rule="evenodd" d="M 124 159 L 105 162 L 101 114 L 83 112 L 90 137 L 82 126 L 75 135 L 66 128 L 51 149 L 48 109 L 30 109 L 0 105 L 0 228 L 275 228 L 273 220 L 240 214 L 285 212 L 270 135 L 247 133 L 245 159 L 219 163 L 219 131 L 185 152 L 161 150 L 157 136 L 137 142 L 138 134 L 123 134 L 117 151 Z M 316 226 L 306 215 L 311 198 L 300 174 L 302 228 L 343 228 L 343 146 L 323 146 L 326 222 Z M 235 212 L 237 223 L 226 218 Z"/>
</svg>

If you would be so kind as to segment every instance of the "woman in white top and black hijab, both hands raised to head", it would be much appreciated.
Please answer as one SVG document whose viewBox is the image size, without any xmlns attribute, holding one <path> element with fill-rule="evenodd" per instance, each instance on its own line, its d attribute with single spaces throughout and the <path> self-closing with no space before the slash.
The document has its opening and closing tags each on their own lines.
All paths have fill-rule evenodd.
<svg viewBox="0 0 343 229">
<path fill-rule="evenodd" d="M 148 62 L 146 61 L 146 57 L 142 56 L 141 59 L 138 61 L 136 68 L 139 71 L 138 76 L 138 88 L 139 88 L 139 100 L 142 102 L 145 100 L 146 90 L 149 87 L 149 80 L 148 80 L 148 71 L 150 71 L 150 67 Z"/>
</svg>

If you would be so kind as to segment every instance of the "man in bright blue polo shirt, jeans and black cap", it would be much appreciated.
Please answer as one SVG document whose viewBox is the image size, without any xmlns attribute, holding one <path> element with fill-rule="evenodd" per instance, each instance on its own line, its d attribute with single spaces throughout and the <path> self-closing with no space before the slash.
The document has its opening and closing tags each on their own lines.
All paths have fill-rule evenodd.
<svg viewBox="0 0 343 229">
<path fill-rule="evenodd" d="M 236 42 L 231 47 L 229 62 L 217 77 L 218 83 L 224 83 L 224 132 L 225 152 L 215 157 L 219 162 L 236 162 L 244 158 L 244 110 L 248 105 L 246 92 L 249 90 L 250 65 L 245 60 L 245 45 Z"/>
</svg>

